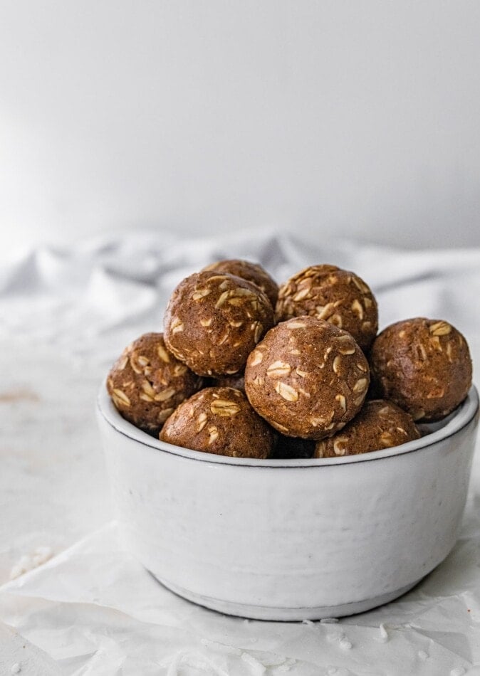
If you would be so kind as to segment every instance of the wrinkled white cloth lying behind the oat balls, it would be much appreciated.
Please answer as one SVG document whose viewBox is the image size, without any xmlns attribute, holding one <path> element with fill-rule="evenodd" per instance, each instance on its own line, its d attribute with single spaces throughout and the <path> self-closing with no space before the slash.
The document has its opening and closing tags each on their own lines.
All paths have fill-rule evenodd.
<svg viewBox="0 0 480 676">
<path fill-rule="evenodd" d="M 469 339 L 480 334 L 480 249 L 399 251 L 273 232 L 184 241 L 143 232 L 76 248 L 40 248 L 6 265 L 0 272 L 0 336 L 46 339 L 68 352 L 110 359 L 125 334 L 161 327 L 169 294 L 185 275 L 233 257 L 259 261 L 278 280 L 319 260 L 334 263 L 370 284 L 381 326 L 442 316 Z"/>
</svg>

